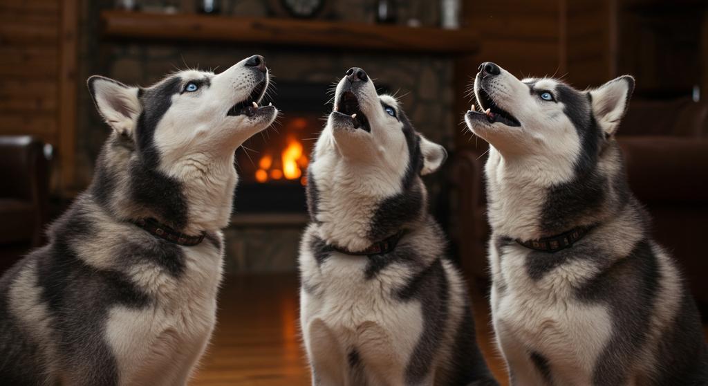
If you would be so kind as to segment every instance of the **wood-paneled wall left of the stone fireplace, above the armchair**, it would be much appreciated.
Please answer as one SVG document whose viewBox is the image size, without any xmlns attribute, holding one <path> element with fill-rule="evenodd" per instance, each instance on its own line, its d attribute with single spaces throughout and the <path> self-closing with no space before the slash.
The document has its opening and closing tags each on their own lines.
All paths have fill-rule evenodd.
<svg viewBox="0 0 708 386">
<path fill-rule="evenodd" d="M 0 135 L 54 145 L 55 188 L 74 178 L 76 1 L 0 0 Z"/>
</svg>

